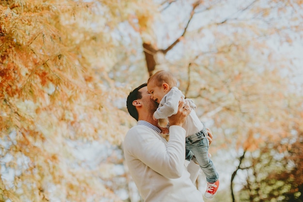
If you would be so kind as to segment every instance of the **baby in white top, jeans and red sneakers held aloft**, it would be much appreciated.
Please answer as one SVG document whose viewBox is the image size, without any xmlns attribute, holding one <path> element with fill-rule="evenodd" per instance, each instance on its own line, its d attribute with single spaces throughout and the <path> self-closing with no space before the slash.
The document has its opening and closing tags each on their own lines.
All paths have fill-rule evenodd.
<svg viewBox="0 0 303 202">
<path fill-rule="evenodd" d="M 177 79 L 167 71 L 158 71 L 152 75 L 147 82 L 147 89 L 151 93 L 151 98 L 159 103 L 158 109 L 153 113 L 153 119 L 166 119 L 176 114 L 178 111 L 179 101 L 184 94 L 177 88 Z M 185 99 L 189 102 L 190 114 L 182 127 L 186 130 L 185 139 L 185 159 L 191 160 L 196 158 L 201 170 L 204 172 L 207 180 L 206 198 L 213 198 L 219 187 L 219 174 L 210 159 L 208 153 L 209 140 L 206 138 L 208 132 L 204 123 L 202 123 L 194 109 L 196 105 L 193 100 Z M 193 109 L 193 110 L 192 110 Z M 169 123 L 167 124 L 169 127 Z M 163 134 L 168 134 L 168 129 L 161 127 Z M 195 159 L 194 158 L 194 159 Z M 194 160 L 193 159 L 193 160 Z"/>
</svg>

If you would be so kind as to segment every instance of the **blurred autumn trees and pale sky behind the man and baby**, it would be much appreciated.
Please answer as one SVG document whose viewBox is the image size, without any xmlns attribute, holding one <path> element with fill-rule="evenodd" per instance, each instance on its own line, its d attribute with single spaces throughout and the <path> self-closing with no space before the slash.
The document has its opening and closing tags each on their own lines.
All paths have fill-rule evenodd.
<svg viewBox="0 0 303 202">
<path fill-rule="evenodd" d="M 0 202 L 143 202 L 126 97 L 162 69 L 212 130 L 215 201 L 303 202 L 302 23 L 302 0 L 1 0 Z"/>
</svg>

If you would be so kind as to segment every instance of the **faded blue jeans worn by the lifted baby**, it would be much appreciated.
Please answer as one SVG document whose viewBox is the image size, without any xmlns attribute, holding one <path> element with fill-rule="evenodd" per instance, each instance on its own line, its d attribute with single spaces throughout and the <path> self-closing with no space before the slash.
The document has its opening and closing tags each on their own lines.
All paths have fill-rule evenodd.
<svg viewBox="0 0 303 202">
<path fill-rule="evenodd" d="M 208 132 L 203 123 L 203 129 L 185 139 L 185 158 L 191 160 L 195 155 L 197 162 L 204 172 L 207 182 L 214 183 L 219 179 L 212 160 L 208 156 L 209 140 L 206 138 Z"/>
</svg>

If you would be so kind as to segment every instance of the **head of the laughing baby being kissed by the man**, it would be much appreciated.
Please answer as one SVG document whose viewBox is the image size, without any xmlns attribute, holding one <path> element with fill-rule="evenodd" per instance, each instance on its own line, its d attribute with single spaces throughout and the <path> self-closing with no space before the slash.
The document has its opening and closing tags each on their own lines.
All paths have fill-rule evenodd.
<svg viewBox="0 0 303 202">
<path fill-rule="evenodd" d="M 174 86 L 177 86 L 177 78 L 164 70 L 156 72 L 147 81 L 147 90 L 151 93 L 151 98 L 157 103 L 160 103 L 164 95 Z"/>
</svg>

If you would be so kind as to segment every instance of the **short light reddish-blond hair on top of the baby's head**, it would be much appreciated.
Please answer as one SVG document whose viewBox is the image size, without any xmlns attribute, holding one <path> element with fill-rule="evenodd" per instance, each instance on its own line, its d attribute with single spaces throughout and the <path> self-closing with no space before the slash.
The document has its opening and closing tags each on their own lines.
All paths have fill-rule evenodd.
<svg viewBox="0 0 303 202">
<path fill-rule="evenodd" d="M 160 70 L 153 74 L 147 81 L 154 82 L 156 86 L 160 87 L 163 83 L 167 83 L 169 85 L 169 88 L 177 86 L 177 78 L 173 76 L 170 72 L 167 72 L 165 70 Z"/>
</svg>

